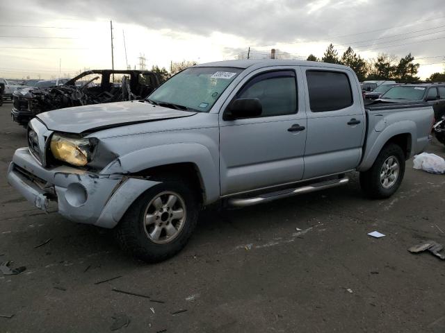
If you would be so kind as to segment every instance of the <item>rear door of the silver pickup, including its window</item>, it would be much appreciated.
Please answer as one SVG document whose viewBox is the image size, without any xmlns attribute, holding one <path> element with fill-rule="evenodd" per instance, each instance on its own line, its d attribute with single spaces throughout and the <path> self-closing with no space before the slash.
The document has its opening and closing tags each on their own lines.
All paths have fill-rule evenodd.
<svg viewBox="0 0 445 333">
<path fill-rule="evenodd" d="M 307 105 L 303 178 L 355 169 L 362 156 L 365 116 L 352 71 L 302 67 Z"/>
</svg>

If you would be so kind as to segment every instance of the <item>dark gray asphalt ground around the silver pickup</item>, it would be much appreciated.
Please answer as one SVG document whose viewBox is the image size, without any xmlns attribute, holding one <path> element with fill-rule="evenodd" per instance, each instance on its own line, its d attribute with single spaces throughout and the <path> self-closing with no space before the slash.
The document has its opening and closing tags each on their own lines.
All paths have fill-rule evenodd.
<svg viewBox="0 0 445 333">
<path fill-rule="evenodd" d="M 209 210 L 179 255 L 148 265 L 111 232 L 45 214 L 8 185 L 26 146 L 10 108 L 0 108 L 0 262 L 26 271 L 0 273 L 0 314 L 14 314 L 0 332 L 111 332 L 120 314 L 130 323 L 116 332 L 445 332 L 445 262 L 407 252 L 445 245 L 445 176 L 408 161 L 387 200 L 364 198 L 353 174 L 346 187 Z M 427 151 L 445 156 L 435 141 Z"/>
</svg>

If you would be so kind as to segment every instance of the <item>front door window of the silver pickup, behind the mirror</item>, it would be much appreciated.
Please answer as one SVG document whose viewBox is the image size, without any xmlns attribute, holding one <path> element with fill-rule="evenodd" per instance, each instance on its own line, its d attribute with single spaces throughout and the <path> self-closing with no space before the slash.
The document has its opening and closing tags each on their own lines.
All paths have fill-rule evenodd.
<svg viewBox="0 0 445 333">
<path fill-rule="evenodd" d="M 261 117 L 280 116 L 297 112 L 297 85 L 293 71 L 270 71 L 250 80 L 239 99 L 259 99 L 263 105 Z"/>
</svg>

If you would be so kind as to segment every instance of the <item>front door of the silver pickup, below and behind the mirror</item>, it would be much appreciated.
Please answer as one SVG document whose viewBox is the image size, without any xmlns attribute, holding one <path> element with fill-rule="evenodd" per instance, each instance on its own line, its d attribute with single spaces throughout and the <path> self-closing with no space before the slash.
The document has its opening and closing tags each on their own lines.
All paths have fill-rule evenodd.
<svg viewBox="0 0 445 333">
<path fill-rule="evenodd" d="M 220 114 L 222 196 L 302 178 L 307 122 L 296 70 L 254 72 L 229 97 L 257 98 L 263 111 L 259 117 L 235 120 L 224 120 Z"/>
</svg>

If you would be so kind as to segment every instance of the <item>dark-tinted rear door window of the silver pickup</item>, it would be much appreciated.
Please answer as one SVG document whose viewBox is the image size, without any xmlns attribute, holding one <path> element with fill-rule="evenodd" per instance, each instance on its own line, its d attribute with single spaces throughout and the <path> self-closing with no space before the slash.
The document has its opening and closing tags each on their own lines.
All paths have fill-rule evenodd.
<svg viewBox="0 0 445 333">
<path fill-rule="evenodd" d="M 339 71 L 306 71 L 312 112 L 334 111 L 353 105 L 349 78 Z"/>
</svg>

